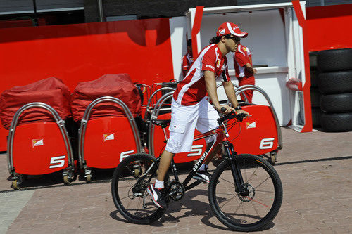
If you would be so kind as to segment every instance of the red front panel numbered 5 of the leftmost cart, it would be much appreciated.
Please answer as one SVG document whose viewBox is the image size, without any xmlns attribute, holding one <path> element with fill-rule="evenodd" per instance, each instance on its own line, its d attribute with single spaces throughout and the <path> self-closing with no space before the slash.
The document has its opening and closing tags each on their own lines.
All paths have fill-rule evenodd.
<svg viewBox="0 0 352 234">
<path fill-rule="evenodd" d="M 18 126 L 13 138 L 13 166 L 17 174 L 41 175 L 68 167 L 68 152 L 56 123 Z"/>
</svg>

